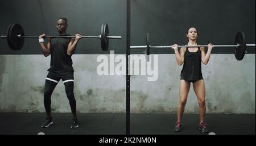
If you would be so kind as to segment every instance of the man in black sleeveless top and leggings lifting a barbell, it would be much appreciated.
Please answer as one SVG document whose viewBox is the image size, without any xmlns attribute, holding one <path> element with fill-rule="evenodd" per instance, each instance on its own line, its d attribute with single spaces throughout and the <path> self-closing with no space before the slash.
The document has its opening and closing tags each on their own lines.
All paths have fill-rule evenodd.
<svg viewBox="0 0 256 146">
<path fill-rule="evenodd" d="M 59 36 L 69 35 L 66 30 L 68 27 L 67 18 L 59 18 L 57 20 L 57 32 Z M 45 34 L 39 36 L 39 43 L 44 56 L 51 55 L 51 68 L 49 68 L 46 77 L 44 90 L 44 107 L 46 109 L 47 118 L 42 124 L 42 127 L 48 127 L 53 124 L 51 116 L 51 95 L 60 79 L 65 85 L 69 105 L 73 114 L 71 128 L 77 128 L 78 119 L 76 117 L 76 99 L 74 97 L 74 70 L 71 56 L 76 51 L 76 45 L 81 39 L 81 35 L 76 34 L 76 37 L 51 37 L 47 40 L 47 45 L 44 44 Z"/>
</svg>

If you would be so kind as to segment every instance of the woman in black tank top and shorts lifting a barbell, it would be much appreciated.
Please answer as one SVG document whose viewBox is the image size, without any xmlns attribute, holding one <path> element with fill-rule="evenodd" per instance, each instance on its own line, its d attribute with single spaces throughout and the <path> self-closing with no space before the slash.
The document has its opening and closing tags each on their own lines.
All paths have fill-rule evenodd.
<svg viewBox="0 0 256 146">
<path fill-rule="evenodd" d="M 201 62 L 207 64 L 210 59 L 210 53 L 213 48 L 213 44 L 208 44 L 208 51 L 205 54 L 203 47 L 189 47 L 189 45 L 197 45 L 196 39 L 198 37 L 197 29 L 191 27 L 187 30 L 188 47 L 181 48 L 178 51 L 177 44 L 174 44 L 172 49 L 175 51 L 176 61 L 178 65 L 183 64 L 183 69 L 180 74 L 180 102 L 177 108 L 177 122 L 174 131 L 181 131 L 181 118 L 187 102 L 188 92 L 191 82 L 193 83 L 193 89 L 196 93 L 197 101 L 199 103 L 200 124 L 199 130 L 202 132 L 208 132 L 207 125 L 204 122 L 205 117 L 205 85 L 201 72 Z"/>
</svg>

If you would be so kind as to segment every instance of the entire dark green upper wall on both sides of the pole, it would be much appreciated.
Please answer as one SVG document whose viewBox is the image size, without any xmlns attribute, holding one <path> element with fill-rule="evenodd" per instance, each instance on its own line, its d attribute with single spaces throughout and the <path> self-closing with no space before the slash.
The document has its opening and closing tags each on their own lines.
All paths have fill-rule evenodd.
<svg viewBox="0 0 256 146">
<path fill-rule="evenodd" d="M 55 35 L 56 19 L 68 18 L 68 33 L 99 35 L 102 23 L 109 24 L 109 49 L 125 53 L 125 0 L 55 0 L 1 1 L 0 34 L 10 23 L 20 23 L 26 35 Z M 233 44 L 237 31 L 246 34 L 247 43 L 255 43 L 255 0 L 131 0 L 131 45 L 145 45 L 146 32 L 151 45 L 185 44 L 185 31 L 197 27 L 200 44 Z M 0 40 L 0 54 L 41 54 L 38 39 L 26 39 L 20 51 L 12 51 Z M 255 53 L 255 48 L 248 48 Z M 101 54 L 100 40 L 82 39 L 76 53 Z M 132 51 L 142 53 L 142 51 Z M 174 53 L 171 49 L 152 49 L 151 53 Z M 233 53 L 230 48 L 216 48 L 213 53 Z"/>
</svg>

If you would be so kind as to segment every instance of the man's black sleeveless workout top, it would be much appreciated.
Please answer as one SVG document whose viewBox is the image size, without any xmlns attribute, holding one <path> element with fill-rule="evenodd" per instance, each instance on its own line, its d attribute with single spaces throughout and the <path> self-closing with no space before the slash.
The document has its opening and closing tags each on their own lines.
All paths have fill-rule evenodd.
<svg viewBox="0 0 256 146">
<path fill-rule="evenodd" d="M 68 34 L 67 34 L 68 35 Z M 70 37 L 51 37 L 51 68 L 48 71 L 72 71 L 71 55 L 67 54 Z"/>
</svg>

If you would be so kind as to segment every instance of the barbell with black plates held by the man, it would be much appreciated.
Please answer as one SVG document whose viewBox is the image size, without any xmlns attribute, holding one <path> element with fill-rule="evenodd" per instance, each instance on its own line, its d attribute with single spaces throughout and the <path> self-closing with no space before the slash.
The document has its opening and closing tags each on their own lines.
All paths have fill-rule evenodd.
<svg viewBox="0 0 256 146">
<path fill-rule="evenodd" d="M 6 35 L 1 35 L 1 39 L 7 39 L 9 47 L 13 50 L 20 50 L 24 44 L 24 38 L 27 37 L 39 37 L 35 35 L 24 35 L 22 26 L 18 23 L 12 23 L 9 25 L 6 31 Z M 76 37 L 76 36 L 58 36 L 47 35 L 46 37 Z M 122 36 L 109 36 L 109 27 L 107 23 L 102 24 L 101 34 L 99 36 L 81 36 L 82 38 L 96 38 L 101 40 L 102 51 L 108 51 L 109 39 L 122 39 Z"/>
</svg>

